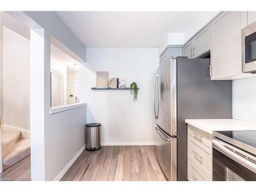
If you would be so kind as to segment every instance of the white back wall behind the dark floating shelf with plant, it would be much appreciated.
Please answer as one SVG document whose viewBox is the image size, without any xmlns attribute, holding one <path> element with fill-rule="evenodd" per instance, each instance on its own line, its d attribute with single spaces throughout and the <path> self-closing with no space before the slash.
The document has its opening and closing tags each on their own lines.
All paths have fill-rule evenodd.
<svg viewBox="0 0 256 192">
<path fill-rule="evenodd" d="M 154 141 L 153 81 L 159 66 L 157 48 L 87 48 L 87 63 L 80 70 L 80 100 L 88 103 L 88 123 L 101 123 L 101 142 L 152 143 Z M 135 81 L 138 100 L 129 90 L 93 91 L 96 72 Z M 120 143 L 118 143 L 120 142 Z"/>
</svg>

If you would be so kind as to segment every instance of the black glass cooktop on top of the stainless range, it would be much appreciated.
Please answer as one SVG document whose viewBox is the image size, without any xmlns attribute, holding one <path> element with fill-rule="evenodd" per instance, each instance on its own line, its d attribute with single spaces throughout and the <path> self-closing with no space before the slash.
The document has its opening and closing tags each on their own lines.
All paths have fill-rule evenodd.
<svg viewBox="0 0 256 192">
<path fill-rule="evenodd" d="M 217 133 L 256 148 L 256 130 L 216 131 Z"/>
</svg>

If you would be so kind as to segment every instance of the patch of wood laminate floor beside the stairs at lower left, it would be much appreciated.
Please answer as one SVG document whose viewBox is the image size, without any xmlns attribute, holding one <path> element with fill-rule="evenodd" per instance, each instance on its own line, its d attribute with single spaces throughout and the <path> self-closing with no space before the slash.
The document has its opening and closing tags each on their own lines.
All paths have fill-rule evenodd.
<svg viewBox="0 0 256 192">
<path fill-rule="evenodd" d="M 30 155 L 8 167 L 0 174 L 0 181 L 30 181 Z"/>
</svg>

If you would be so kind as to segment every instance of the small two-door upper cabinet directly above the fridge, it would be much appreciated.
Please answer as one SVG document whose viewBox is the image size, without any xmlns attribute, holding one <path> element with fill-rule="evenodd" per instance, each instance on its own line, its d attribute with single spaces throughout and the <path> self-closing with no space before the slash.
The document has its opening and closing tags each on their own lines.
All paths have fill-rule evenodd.
<svg viewBox="0 0 256 192">
<path fill-rule="evenodd" d="M 183 56 L 196 58 L 210 50 L 210 31 L 209 26 L 202 29 L 197 35 L 187 42 L 183 47 Z"/>
</svg>

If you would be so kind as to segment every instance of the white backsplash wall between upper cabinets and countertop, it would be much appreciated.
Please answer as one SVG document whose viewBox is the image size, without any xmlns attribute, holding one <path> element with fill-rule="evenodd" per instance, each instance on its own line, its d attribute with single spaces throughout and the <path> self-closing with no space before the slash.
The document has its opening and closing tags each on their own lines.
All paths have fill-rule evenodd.
<svg viewBox="0 0 256 192">
<path fill-rule="evenodd" d="M 232 81 L 232 118 L 256 123 L 256 77 Z"/>
</svg>

